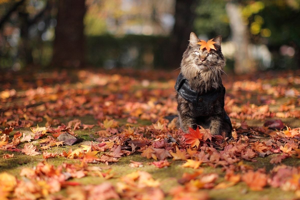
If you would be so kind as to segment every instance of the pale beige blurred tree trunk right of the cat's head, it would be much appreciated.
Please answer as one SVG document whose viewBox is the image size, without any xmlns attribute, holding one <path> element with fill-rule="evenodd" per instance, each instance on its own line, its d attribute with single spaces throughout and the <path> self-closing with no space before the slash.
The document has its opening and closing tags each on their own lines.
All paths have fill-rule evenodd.
<svg viewBox="0 0 300 200">
<path fill-rule="evenodd" d="M 234 71 L 237 74 L 256 71 L 254 62 L 248 53 L 249 35 L 247 25 L 243 22 L 241 11 L 237 4 L 227 3 L 226 12 L 235 43 Z"/>
</svg>

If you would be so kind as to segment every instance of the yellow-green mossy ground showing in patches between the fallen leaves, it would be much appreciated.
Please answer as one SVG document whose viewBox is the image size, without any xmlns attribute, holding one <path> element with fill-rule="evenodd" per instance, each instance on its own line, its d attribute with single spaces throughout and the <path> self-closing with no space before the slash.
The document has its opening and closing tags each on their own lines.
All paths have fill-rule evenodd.
<svg viewBox="0 0 300 200">
<path fill-rule="evenodd" d="M 62 122 L 67 123 L 67 121 L 74 119 L 74 118 L 61 118 L 60 120 Z M 91 118 L 91 116 L 86 116 L 86 117 L 80 117 L 79 118 L 82 123 L 85 124 L 95 124 L 96 121 Z M 290 120 L 290 121 L 289 121 Z M 120 124 L 125 124 L 126 121 L 119 121 Z M 292 123 L 299 123 L 299 120 L 297 119 L 286 119 L 286 124 L 292 122 Z M 249 121 L 250 124 L 256 124 L 256 126 L 261 123 L 259 121 Z M 148 125 L 151 124 L 149 121 L 139 121 L 137 125 L 143 126 L 143 125 Z M 44 124 L 39 123 L 39 126 L 42 127 Z M 79 148 L 80 144 L 86 144 L 91 140 L 89 138 L 89 135 L 92 133 L 95 133 L 95 131 L 100 130 L 101 128 L 98 126 L 93 127 L 91 130 L 76 130 L 76 133 L 78 134 L 79 138 L 83 138 L 84 141 L 79 144 L 75 144 L 72 146 L 59 146 L 59 147 L 53 147 L 48 150 L 48 152 L 52 153 L 61 153 L 62 151 L 69 151 L 70 148 L 73 150 L 76 148 Z M 22 128 L 18 129 L 21 132 L 29 132 L 29 128 Z M 15 132 L 14 130 L 13 132 Z M 88 136 L 88 137 L 86 137 Z M 19 147 L 24 146 L 24 142 L 19 145 Z M 2 156 L 3 154 L 7 154 L 10 152 L 7 151 L 0 151 L 0 172 L 8 172 L 12 175 L 15 175 L 16 177 L 20 177 L 19 173 L 22 168 L 24 167 L 29 167 L 32 168 L 36 166 L 39 162 L 42 162 L 44 159 L 42 155 L 36 155 L 36 156 L 27 156 L 22 153 L 14 152 L 14 157 L 10 159 L 3 159 Z M 265 168 L 266 171 L 271 170 L 275 165 L 270 163 L 270 160 L 272 157 L 276 155 L 271 155 L 267 156 L 265 158 L 258 157 L 256 158 L 257 162 L 248 162 L 248 161 L 243 161 L 244 164 L 247 164 L 249 166 L 252 166 L 253 169 L 259 169 L 259 168 Z M 140 168 L 132 168 L 129 166 L 131 163 L 130 160 L 133 161 L 138 161 L 143 163 L 143 167 Z M 72 181 L 76 181 L 82 185 L 88 185 L 88 184 L 101 184 L 104 181 L 109 181 L 112 184 L 116 184 L 119 181 L 119 178 L 129 174 L 131 172 L 141 170 L 141 171 L 146 171 L 149 172 L 152 177 L 155 180 L 159 180 L 161 182 L 161 189 L 167 193 L 171 188 L 180 185 L 177 180 L 182 178 L 182 175 L 184 172 L 187 173 L 193 173 L 197 169 L 192 169 L 192 168 L 184 168 L 182 167 L 182 164 L 184 161 L 173 161 L 169 159 L 168 161 L 171 163 L 169 167 L 166 168 L 157 168 L 153 165 L 149 165 L 149 162 L 154 161 L 153 159 L 149 160 L 145 157 L 142 157 L 140 152 L 134 153 L 132 155 L 129 155 L 127 157 L 122 157 L 119 159 L 117 163 L 112 163 L 109 166 L 105 165 L 104 163 L 97 163 L 97 164 L 88 164 L 88 165 L 96 165 L 96 166 L 101 166 L 104 168 L 103 172 L 107 172 L 110 170 L 110 174 L 114 174 L 113 178 L 106 180 L 105 178 L 102 177 L 97 177 L 97 176 L 91 176 L 88 175 L 83 178 L 78 178 L 78 179 L 73 179 Z M 55 158 L 50 158 L 47 160 L 49 164 L 52 164 L 54 166 L 61 165 L 62 163 L 80 163 L 80 160 L 72 160 L 72 159 L 67 159 L 64 157 L 55 157 Z M 292 158 L 287 158 L 282 161 L 282 164 L 289 165 L 289 166 L 299 166 L 300 165 L 300 159 L 292 157 Z M 219 174 L 219 179 L 218 181 L 223 181 L 223 177 L 225 175 L 225 172 L 221 170 L 221 168 L 212 168 L 209 166 L 206 166 L 205 164 L 202 165 L 202 168 L 204 170 L 204 173 L 217 173 Z M 228 187 L 226 189 L 220 189 L 220 190 L 203 190 L 206 191 L 211 199 L 215 200 L 223 200 L 223 199 L 233 199 L 233 200 L 238 200 L 238 199 L 273 199 L 273 200 L 281 200 L 281 199 L 295 199 L 295 194 L 294 192 L 288 192 L 288 191 L 282 191 L 278 188 L 271 188 L 267 187 L 262 191 L 251 191 L 247 185 L 243 182 L 240 182 L 236 184 L 235 186 Z M 65 191 L 62 190 L 60 192 L 61 194 L 65 194 Z M 166 199 L 171 199 L 170 196 L 167 196 Z"/>
</svg>

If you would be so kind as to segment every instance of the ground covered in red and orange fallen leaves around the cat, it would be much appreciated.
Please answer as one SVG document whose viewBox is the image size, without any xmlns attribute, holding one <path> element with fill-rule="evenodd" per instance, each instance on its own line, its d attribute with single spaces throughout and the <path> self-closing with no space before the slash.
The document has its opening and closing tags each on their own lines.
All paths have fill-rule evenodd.
<svg viewBox="0 0 300 200">
<path fill-rule="evenodd" d="M 299 199 L 299 71 L 224 75 L 230 138 L 177 129 L 178 73 L 1 75 L 0 199 Z"/>
</svg>

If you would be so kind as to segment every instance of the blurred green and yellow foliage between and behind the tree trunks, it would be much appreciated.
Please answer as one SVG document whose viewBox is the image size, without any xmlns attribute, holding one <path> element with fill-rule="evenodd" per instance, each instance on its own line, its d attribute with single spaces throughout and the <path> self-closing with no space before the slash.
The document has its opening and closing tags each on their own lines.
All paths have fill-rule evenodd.
<svg viewBox="0 0 300 200">
<path fill-rule="evenodd" d="M 16 2 L 0 1 L 0 16 L 4 16 Z M 25 11 L 28 12 L 29 19 L 43 10 L 47 2 L 50 1 L 26 1 Z M 164 8 L 167 5 L 167 1 L 162 2 L 164 3 L 163 7 L 159 7 L 160 4 L 152 6 L 151 1 L 143 1 L 141 5 L 143 5 L 144 10 L 146 6 L 151 8 L 147 8 L 149 14 L 142 12 L 139 5 L 131 7 L 130 10 L 122 0 L 87 0 L 86 2 L 88 2 L 88 6 L 91 8 L 84 20 L 87 64 L 95 67 L 104 66 L 107 69 L 113 67 L 151 69 L 166 66 L 167 59 L 169 58 L 165 49 L 167 46 L 170 46 L 170 40 L 172 39 L 168 36 L 169 32 L 166 32 L 164 36 L 128 34 L 126 32 L 113 33 L 112 29 L 109 29 L 111 27 L 108 27 L 109 20 L 107 18 L 111 15 L 115 16 L 116 19 L 113 23 L 115 23 L 116 27 L 119 27 L 119 24 L 122 23 L 132 27 L 138 25 L 139 28 L 145 24 L 149 26 L 152 20 L 153 22 L 159 22 L 160 20 L 160 15 L 154 12 L 155 9 L 162 9 L 160 10 L 161 13 L 164 13 L 163 9 L 167 9 L 170 14 L 170 7 Z M 121 4 L 122 2 L 123 4 Z M 221 34 L 223 41 L 232 40 L 228 13 L 226 13 L 225 9 L 228 2 L 239 6 L 244 23 L 248 28 L 250 43 L 256 45 L 263 44 L 268 47 L 272 54 L 270 69 L 299 68 L 300 0 L 198 0 L 198 5 L 195 8 L 196 18 L 193 27 L 196 34 L 207 37 L 207 39 Z M 55 4 L 55 1 L 53 1 L 53 4 Z M 116 7 L 116 5 L 119 5 L 119 7 Z M 125 8 L 129 10 L 125 10 L 125 12 Z M 55 13 L 57 12 L 55 6 L 50 10 L 51 14 L 48 14 L 48 18 L 52 18 L 47 19 L 46 17 L 42 17 L 40 21 L 29 27 L 29 38 L 20 38 L 19 41 L 15 42 L 15 46 L 11 45 L 10 41 L 12 41 L 12 38 L 22 37 L 20 35 L 21 22 L 18 16 L 20 9 L 10 17 L 5 24 L 6 29 L 2 27 L 0 30 L 0 41 L 2 42 L 0 43 L 0 69 L 13 69 L 12 66 L 15 63 L 18 63 L 20 66 L 26 66 L 25 60 L 22 58 L 22 49 L 18 46 L 22 43 L 22 40 L 29 40 L 29 45 L 32 47 L 33 64 L 45 67 L 50 64 L 53 52 L 53 37 L 48 37 L 47 35 L 51 35 L 50 33 L 54 34 L 56 23 Z M 143 17 L 145 21 L 141 21 Z M 50 20 L 51 23 L 46 23 L 44 28 L 41 28 L 43 20 Z M 157 27 L 154 29 L 157 29 Z M 120 30 L 123 29 L 121 28 Z M 12 36 L 13 34 L 14 36 Z M 41 39 L 42 35 L 46 39 Z M 227 60 L 227 66 L 232 68 L 233 61 Z"/>
</svg>

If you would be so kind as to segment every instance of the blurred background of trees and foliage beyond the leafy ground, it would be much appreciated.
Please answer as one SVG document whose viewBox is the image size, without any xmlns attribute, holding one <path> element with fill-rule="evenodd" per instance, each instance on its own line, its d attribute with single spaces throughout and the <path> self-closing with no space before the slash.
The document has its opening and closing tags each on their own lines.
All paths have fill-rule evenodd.
<svg viewBox="0 0 300 200">
<path fill-rule="evenodd" d="M 0 0 L 0 71 L 177 69 L 222 35 L 226 71 L 300 67 L 300 0 Z"/>
</svg>

